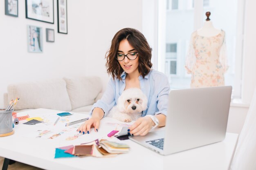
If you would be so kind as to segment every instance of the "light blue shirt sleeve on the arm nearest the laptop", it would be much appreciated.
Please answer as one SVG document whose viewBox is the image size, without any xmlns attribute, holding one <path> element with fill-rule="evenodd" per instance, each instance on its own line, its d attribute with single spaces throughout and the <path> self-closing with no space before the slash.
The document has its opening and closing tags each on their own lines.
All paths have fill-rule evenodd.
<svg viewBox="0 0 256 170">
<path fill-rule="evenodd" d="M 155 90 L 157 91 L 157 111 L 155 115 L 164 114 L 167 115 L 167 107 L 168 107 L 168 95 L 170 91 L 170 85 L 168 82 L 168 78 L 166 75 L 162 74 L 162 76 L 157 77 L 157 82 L 155 86 Z"/>
</svg>

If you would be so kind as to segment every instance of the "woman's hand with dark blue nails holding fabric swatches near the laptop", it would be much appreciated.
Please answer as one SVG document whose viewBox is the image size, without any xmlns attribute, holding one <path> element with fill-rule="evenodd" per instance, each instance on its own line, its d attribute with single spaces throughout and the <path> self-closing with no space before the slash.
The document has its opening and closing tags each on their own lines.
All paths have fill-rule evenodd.
<svg viewBox="0 0 256 170">
<path fill-rule="evenodd" d="M 132 126 L 130 126 L 130 131 L 128 132 L 135 136 L 145 136 L 154 125 L 155 123 L 150 117 L 140 117 L 134 124 L 132 124 Z"/>
</svg>

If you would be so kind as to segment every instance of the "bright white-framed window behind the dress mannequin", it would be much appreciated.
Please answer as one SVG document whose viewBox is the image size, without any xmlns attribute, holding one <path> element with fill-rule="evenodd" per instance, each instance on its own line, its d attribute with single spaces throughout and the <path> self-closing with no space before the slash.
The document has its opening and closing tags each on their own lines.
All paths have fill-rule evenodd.
<svg viewBox="0 0 256 170">
<path fill-rule="evenodd" d="M 158 3 L 160 2 L 158 1 Z M 216 29 L 224 30 L 226 33 L 229 69 L 225 73 L 225 85 L 233 86 L 233 97 L 240 97 L 242 68 L 241 64 L 237 64 L 237 62 L 242 61 L 243 38 L 241 36 L 243 36 L 243 29 L 239 25 L 243 25 L 243 19 L 238 20 L 237 15 L 243 15 L 243 7 L 238 6 L 238 0 L 167 0 L 164 5 L 159 5 L 159 11 L 162 10 L 161 7 L 171 10 L 166 10 L 164 17 L 161 12 L 161 17 L 158 17 L 158 24 L 160 24 L 158 25 L 158 33 L 159 35 L 165 34 L 164 38 L 158 38 L 158 42 L 164 41 L 166 46 L 162 48 L 161 42 L 157 47 L 158 54 L 165 52 L 165 55 L 157 55 L 157 70 L 166 73 L 171 88 L 190 87 L 191 75 L 186 73 L 184 65 L 191 33 L 203 26 L 206 19 L 205 13 L 210 11 L 209 18 L 213 26 Z M 165 20 L 165 23 L 162 24 L 164 21 L 161 20 Z M 164 26 L 163 30 L 161 30 L 161 24 L 162 27 Z M 237 32 L 237 28 L 240 28 L 238 29 L 240 32 Z"/>
</svg>

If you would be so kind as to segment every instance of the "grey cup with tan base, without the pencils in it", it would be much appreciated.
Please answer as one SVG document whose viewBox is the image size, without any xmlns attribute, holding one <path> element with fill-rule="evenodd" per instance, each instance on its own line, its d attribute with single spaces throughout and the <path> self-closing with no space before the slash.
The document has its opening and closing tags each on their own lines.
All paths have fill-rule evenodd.
<svg viewBox="0 0 256 170">
<path fill-rule="evenodd" d="M 12 122 L 13 110 L 0 109 L 0 137 L 9 136 L 14 133 Z"/>
</svg>

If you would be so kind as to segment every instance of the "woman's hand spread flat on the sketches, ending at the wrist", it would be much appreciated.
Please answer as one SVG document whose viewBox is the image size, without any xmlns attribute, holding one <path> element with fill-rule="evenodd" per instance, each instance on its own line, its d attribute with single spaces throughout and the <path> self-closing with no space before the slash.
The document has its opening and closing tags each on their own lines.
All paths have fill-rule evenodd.
<svg viewBox="0 0 256 170">
<path fill-rule="evenodd" d="M 90 129 L 94 127 L 94 131 L 98 132 L 99 123 L 101 119 L 99 117 L 92 117 L 85 121 L 76 131 L 79 133 L 90 133 Z"/>
</svg>

